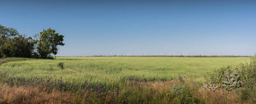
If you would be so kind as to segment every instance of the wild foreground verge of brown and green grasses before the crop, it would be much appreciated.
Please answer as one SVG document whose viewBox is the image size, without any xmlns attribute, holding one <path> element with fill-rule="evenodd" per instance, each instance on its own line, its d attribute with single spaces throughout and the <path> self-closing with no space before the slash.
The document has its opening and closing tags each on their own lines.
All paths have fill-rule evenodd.
<svg viewBox="0 0 256 104">
<path fill-rule="evenodd" d="M 33 80 L 30 81 L 33 83 Z M 30 85 L 31 83 L 27 81 L 27 85 L 17 86 L 15 83 L 19 82 L 9 81 L 0 86 L 0 103 L 256 103 L 256 87 L 238 88 L 231 92 L 222 88 L 213 91 L 187 78 L 145 82 L 131 77 L 123 82 L 115 90 L 86 87 L 73 91 L 60 91 L 57 87 L 48 86 L 47 82 L 45 85 Z"/>
</svg>

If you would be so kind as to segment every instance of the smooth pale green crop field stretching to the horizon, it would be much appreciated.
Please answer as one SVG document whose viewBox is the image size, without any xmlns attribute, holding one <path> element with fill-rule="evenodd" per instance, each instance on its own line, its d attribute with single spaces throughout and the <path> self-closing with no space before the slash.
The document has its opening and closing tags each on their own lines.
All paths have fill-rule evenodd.
<svg viewBox="0 0 256 104">
<path fill-rule="evenodd" d="M 0 71 L 6 76 L 32 78 L 58 76 L 67 81 L 90 80 L 115 84 L 125 76 L 145 77 L 148 81 L 171 80 L 178 74 L 198 82 L 220 67 L 235 67 L 248 62 L 248 57 L 237 58 L 173 58 L 173 57 L 57 57 L 56 60 L 27 60 L 4 63 Z M 66 69 L 57 66 L 64 62 Z M 69 69 L 69 70 L 67 70 Z"/>
</svg>

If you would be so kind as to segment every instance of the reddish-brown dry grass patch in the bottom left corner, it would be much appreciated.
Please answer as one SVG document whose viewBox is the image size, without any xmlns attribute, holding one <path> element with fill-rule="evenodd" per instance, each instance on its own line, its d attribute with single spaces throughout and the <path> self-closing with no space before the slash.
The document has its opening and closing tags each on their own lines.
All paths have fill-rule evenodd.
<svg viewBox="0 0 256 104">
<path fill-rule="evenodd" d="M 37 87 L 10 87 L 0 85 L 0 103 L 12 104 L 63 104 L 72 103 L 74 97 L 67 92 Z"/>
</svg>

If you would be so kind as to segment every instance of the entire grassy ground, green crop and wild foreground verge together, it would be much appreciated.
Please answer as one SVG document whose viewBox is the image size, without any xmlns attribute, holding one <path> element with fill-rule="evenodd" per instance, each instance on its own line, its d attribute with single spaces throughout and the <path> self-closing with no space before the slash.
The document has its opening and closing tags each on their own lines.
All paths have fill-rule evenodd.
<svg viewBox="0 0 256 104">
<path fill-rule="evenodd" d="M 256 61 L 253 57 L 3 58 L 0 62 L 3 63 L 0 66 L 0 103 L 4 104 L 256 102 Z M 59 63 L 64 63 L 64 66 L 59 67 Z M 242 83 L 238 83 L 233 91 L 222 85 L 224 79 L 221 78 L 225 76 L 222 72 L 227 69 L 221 67 L 227 66 L 240 70 Z M 209 76 L 212 79 L 208 79 Z M 209 81 L 215 83 L 211 86 L 220 87 L 202 86 L 202 82 Z"/>
</svg>

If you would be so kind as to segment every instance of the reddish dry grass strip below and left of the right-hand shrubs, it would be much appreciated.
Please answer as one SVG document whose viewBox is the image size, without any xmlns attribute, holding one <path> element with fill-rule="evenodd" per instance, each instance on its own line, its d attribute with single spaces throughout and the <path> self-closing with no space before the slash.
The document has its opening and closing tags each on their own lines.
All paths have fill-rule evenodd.
<svg viewBox="0 0 256 104">
<path fill-rule="evenodd" d="M 184 79 L 185 83 L 182 84 L 179 80 L 171 80 L 171 81 L 165 81 L 165 82 L 148 82 L 148 85 L 150 85 L 150 88 L 157 90 L 158 92 L 163 92 L 171 89 L 171 86 L 173 84 L 177 85 L 185 85 L 188 87 L 194 97 L 198 97 L 205 101 L 206 104 L 241 104 L 246 103 L 241 101 L 239 98 L 239 95 L 235 94 L 235 92 L 228 92 L 226 90 L 223 90 L 222 88 L 217 89 L 215 91 L 211 91 L 209 89 L 205 89 L 203 87 L 199 87 L 198 84 L 190 81 L 190 79 Z M 221 97 L 222 98 L 221 98 Z M 220 99 L 219 99 L 220 98 Z M 217 101 L 216 101 L 217 100 Z M 250 104 L 251 102 L 247 102 Z"/>
</svg>

